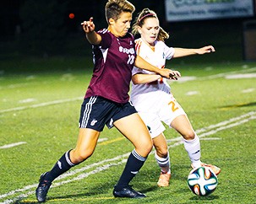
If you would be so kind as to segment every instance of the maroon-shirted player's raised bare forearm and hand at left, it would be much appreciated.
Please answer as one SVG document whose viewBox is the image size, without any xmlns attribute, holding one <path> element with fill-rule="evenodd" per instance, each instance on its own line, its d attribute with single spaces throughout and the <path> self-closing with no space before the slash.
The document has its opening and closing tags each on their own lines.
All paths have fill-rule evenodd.
<svg viewBox="0 0 256 204">
<path fill-rule="evenodd" d="M 89 21 L 84 21 L 81 23 L 83 26 L 83 30 L 85 32 L 87 40 L 92 45 L 100 45 L 101 44 L 101 35 L 98 35 L 95 32 L 95 24 L 93 23 L 93 18 L 91 17 Z"/>
</svg>

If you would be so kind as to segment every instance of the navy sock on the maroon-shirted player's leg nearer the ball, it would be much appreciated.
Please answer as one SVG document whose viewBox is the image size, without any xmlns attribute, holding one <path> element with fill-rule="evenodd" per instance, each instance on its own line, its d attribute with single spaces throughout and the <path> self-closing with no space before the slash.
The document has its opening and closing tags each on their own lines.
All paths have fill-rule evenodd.
<svg viewBox="0 0 256 204">
<path fill-rule="evenodd" d="M 133 180 L 133 177 L 139 172 L 139 169 L 143 166 L 146 158 L 140 156 L 136 153 L 135 149 L 128 157 L 125 168 L 123 169 L 123 174 L 117 182 L 116 190 L 119 191 L 123 187 L 128 186 L 129 182 Z"/>
</svg>

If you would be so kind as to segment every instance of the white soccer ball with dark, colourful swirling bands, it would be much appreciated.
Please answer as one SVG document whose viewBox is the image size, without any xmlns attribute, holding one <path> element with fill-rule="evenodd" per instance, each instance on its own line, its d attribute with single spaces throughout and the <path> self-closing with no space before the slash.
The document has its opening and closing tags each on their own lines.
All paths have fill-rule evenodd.
<svg viewBox="0 0 256 204">
<path fill-rule="evenodd" d="M 195 195 L 208 196 L 217 185 L 218 178 L 209 167 L 201 166 L 188 174 L 188 187 Z"/>
</svg>

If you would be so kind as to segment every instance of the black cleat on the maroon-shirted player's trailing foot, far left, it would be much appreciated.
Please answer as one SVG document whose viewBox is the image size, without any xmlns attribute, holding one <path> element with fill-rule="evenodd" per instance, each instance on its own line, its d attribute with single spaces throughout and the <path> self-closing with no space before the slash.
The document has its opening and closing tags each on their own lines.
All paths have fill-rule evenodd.
<svg viewBox="0 0 256 204">
<path fill-rule="evenodd" d="M 47 192 L 48 192 L 50 186 L 52 185 L 52 182 L 45 180 L 46 173 L 41 174 L 40 179 L 39 179 L 39 185 L 37 186 L 37 188 L 35 190 L 35 196 L 36 196 L 37 201 L 39 201 L 39 202 L 46 201 Z"/>
</svg>

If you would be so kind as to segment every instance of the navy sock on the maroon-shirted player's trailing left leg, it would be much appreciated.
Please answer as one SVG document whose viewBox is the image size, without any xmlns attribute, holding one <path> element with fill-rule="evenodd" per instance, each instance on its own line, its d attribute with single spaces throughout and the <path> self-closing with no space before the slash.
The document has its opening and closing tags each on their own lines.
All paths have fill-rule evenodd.
<svg viewBox="0 0 256 204">
<path fill-rule="evenodd" d="M 55 180 L 59 175 L 65 173 L 75 165 L 70 161 L 70 151 L 71 150 L 69 150 L 67 153 L 64 153 L 63 156 L 53 166 L 52 170 L 46 173 L 46 180 L 52 182 L 52 180 Z"/>
</svg>

